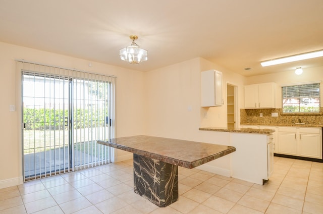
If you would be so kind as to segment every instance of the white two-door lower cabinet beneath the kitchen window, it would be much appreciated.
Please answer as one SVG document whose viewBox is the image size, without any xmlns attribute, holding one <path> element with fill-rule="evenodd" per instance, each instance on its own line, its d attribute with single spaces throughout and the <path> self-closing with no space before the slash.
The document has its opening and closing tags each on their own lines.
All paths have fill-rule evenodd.
<svg viewBox="0 0 323 214">
<path fill-rule="evenodd" d="M 322 158 L 321 128 L 278 128 L 279 154 Z"/>
</svg>

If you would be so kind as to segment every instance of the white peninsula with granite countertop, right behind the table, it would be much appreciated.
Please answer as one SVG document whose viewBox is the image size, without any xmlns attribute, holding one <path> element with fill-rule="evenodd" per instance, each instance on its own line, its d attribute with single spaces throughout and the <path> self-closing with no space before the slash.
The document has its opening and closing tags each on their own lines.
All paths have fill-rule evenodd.
<svg viewBox="0 0 323 214">
<path fill-rule="evenodd" d="M 237 178 L 263 185 L 269 180 L 274 166 L 273 129 L 225 129 L 217 127 L 199 128 L 214 143 L 221 142 L 234 146 L 236 152 L 230 159 L 223 158 L 198 167 L 211 173 Z M 222 162 L 223 161 L 223 162 Z M 227 163 L 230 163 L 227 165 Z"/>
</svg>

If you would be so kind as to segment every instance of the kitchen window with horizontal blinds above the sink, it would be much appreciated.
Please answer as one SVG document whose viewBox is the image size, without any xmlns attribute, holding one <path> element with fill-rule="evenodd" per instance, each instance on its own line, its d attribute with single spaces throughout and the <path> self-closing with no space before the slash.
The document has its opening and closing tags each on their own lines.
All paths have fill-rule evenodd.
<svg viewBox="0 0 323 214">
<path fill-rule="evenodd" d="M 283 113 L 319 113 L 319 89 L 319 82 L 283 86 Z"/>
</svg>

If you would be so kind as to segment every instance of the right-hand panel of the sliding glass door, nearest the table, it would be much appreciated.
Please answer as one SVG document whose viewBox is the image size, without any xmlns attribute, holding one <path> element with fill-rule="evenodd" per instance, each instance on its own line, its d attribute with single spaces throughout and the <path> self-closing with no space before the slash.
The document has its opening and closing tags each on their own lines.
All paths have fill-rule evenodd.
<svg viewBox="0 0 323 214">
<path fill-rule="evenodd" d="M 73 166 L 78 169 L 109 160 L 109 150 L 96 140 L 111 138 L 111 86 L 104 81 L 73 81 Z"/>
</svg>

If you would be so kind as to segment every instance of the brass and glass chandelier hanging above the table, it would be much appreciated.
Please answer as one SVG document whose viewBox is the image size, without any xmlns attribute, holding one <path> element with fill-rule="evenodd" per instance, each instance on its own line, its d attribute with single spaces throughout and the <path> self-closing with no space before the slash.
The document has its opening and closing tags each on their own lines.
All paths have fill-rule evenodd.
<svg viewBox="0 0 323 214">
<path fill-rule="evenodd" d="M 131 35 L 129 37 L 132 39 L 132 43 L 130 46 L 120 49 L 120 59 L 127 61 L 130 64 L 138 64 L 146 61 L 148 59 L 147 50 L 140 48 L 135 42 L 135 40 L 138 39 L 138 36 Z"/>
</svg>

